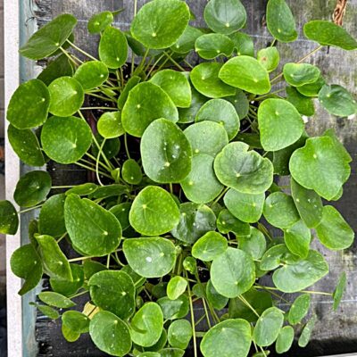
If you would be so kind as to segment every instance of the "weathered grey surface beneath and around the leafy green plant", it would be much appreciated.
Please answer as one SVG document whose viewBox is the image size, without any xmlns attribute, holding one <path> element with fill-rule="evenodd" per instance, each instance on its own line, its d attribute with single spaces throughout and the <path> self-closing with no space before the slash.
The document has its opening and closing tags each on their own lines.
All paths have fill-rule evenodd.
<svg viewBox="0 0 357 357">
<path fill-rule="evenodd" d="M 138 8 L 147 1 L 139 0 Z M 266 0 L 243 0 L 248 12 L 248 25 L 245 31 L 254 37 L 256 48 L 262 48 L 270 43 L 271 37 L 264 26 L 264 12 Z M 295 14 L 299 28 L 306 21 L 331 18 L 336 0 L 288 0 Z M 34 15 L 39 24 L 51 20 L 62 12 L 70 12 L 79 18 L 76 29 L 76 41 L 87 51 L 95 54 L 97 36 L 87 34 L 87 20 L 95 12 L 104 10 L 117 10 L 125 7 L 117 18 L 115 25 L 120 29 L 128 29 L 133 16 L 133 0 L 33 0 Z M 194 24 L 204 26 L 202 13 L 206 0 L 188 0 L 197 20 Z M 349 0 L 345 13 L 344 26 L 350 33 L 357 37 L 357 0 Z M 278 45 L 281 56 L 286 62 L 296 61 L 309 53 L 317 45 L 306 40 L 301 34 L 294 44 Z M 344 52 L 336 48 L 324 48 L 320 53 L 311 57 L 309 62 L 319 65 L 324 76 L 330 83 L 347 87 L 357 95 L 357 67 L 355 52 Z M 283 63 L 282 63 L 283 64 Z M 325 129 L 335 128 L 337 136 L 344 142 L 353 159 L 357 156 L 357 120 L 346 120 L 333 117 L 322 109 L 318 109 L 316 115 L 309 123 L 311 134 L 320 134 Z M 345 216 L 345 219 L 357 231 L 357 180 L 356 162 L 352 163 L 352 175 L 345 185 L 345 193 L 342 199 L 336 203 L 336 207 Z M 62 172 L 63 180 L 66 180 L 68 171 Z M 65 184 L 63 181 L 62 184 Z M 319 321 L 314 330 L 311 344 L 299 353 L 288 355 L 296 356 L 321 356 L 337 353 L 357 353 L 357 244 L 344 253 L 331 253 L 315 244 L 320 252 L 323 252 L 330 266 L 330 273 L 318 285 L 315 290 L 331 291 L 336 284 L 336 278 L 345 270 L 349 279 L 344 300 L 339 311 L 331 311 L 332 303 L 326 296 L 313 298 L 312 310 L 317 313 Z M 286 297 L 286 296 L 285 296 Z M 81 337 L 75 344 L 67 344 L 60 333 L 58 322 L 43 322 L 43 326 L 37 331 L 37 339 L 40 342 L 40 355 L 46 356 L 102 356 L 104 353 L 95 351 L 87 336 Z M 287 354 L 286 354 L 287 356 Z"/>
</svg>

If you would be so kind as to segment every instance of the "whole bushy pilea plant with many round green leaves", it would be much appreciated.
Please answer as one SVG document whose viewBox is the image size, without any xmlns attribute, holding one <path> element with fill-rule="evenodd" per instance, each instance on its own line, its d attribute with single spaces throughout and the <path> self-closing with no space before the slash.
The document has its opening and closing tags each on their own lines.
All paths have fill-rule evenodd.
<svg viewBox="0 0 357 357">
<path fill-rule="evenodd" d="M 271 46 L 257 53 L 241 31 L 239 0 L 210 0 L 206 29 L 189 25 L 193 14 L 179 0 L 145 4 L 126 32 L 112 27 L 118 13 L 88 22 L 100 34 L 97 58 L 74 45 L 70 14 L 21 47 L 50 61 L 12 96 L 13 150 L 30 166 L 75 163 L 95 179 L 53 187 L 45 170 L 33 170 L 14 192 L 24 209 L 0 203 L 0 230 L 10 235 L 18 213 L 39 209 L 29 245 L 12 255 L 19 293 L 45 274 L 51 288 L 37 308 L 51 319 L 69 309 L 63 336 L 89 332 L 114 356 L 177 357 L 190 343 L 195 356 L 266 356 L 274 343 L 289 350 L 296 335 L 307 345 L 311 294 L 330 295 L 336 309 L 346 280 L 334 292 L 306 290 L 328 274 L 311 228 L 313 246 L 331 250 L 352 245 L 353 230 L 322 203 L 342 195 L 351 157 L 333 130 L 309 137 L 303 118 L 314 99 L 340 117 L 354 115 L 356 103 L 305 60 L 357 42 L 332 22 L 308 22 L 304 36 L 320 46 L 270 75 L 277 42 L 297 37 L 284 0 L 268 2 Z M 206 61 L 194 66 L 192 53 Z M 280 293 L 298 294 L 286 309 Z"/>
</svg>

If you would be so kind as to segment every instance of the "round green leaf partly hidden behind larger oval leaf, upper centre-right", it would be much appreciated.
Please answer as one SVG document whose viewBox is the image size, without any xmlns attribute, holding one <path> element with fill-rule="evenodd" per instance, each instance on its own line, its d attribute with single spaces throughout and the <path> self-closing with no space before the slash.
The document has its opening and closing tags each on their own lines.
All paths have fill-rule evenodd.
<svg viewBox="0 0 357 357">
<path fill-rule="evenodd" d="M 190 72 L 190 79 L 195 89 L 209 98 L 235 95 L 236 88 L 228 86 L 219 79 L 222 64 L 219 62 L 200 63 Z"/>
</svg>

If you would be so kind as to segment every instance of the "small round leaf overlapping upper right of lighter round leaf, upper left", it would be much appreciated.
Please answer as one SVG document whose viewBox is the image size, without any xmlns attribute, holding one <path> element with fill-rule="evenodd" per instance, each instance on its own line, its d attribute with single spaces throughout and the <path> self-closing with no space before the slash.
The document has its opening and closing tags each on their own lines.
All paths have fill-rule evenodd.
<svg viewBox="0 0 357 357">
<path fill-rule="evenodd" d="M 108 68 L 99 61 L 84 62 L 74 74 L 74 78 L 79 81 L 84 90 L 101 86 L 108 77 Z"/>
</svg>

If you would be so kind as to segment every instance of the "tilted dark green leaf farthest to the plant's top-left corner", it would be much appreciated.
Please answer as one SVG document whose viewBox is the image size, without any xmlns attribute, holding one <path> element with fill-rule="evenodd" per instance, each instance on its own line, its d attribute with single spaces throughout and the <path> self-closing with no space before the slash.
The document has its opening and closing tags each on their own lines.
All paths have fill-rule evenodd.
<svg viewBox="0 0 357 357">
<path fill-rule="evenodd" d="M 29 41 L 20 48 L 20 54 L 31 60 L 49 57 L 63 46 L 76 24 L 76 18 L 69 13 L 57 16 L 29 37 Z"/>
</svg>

